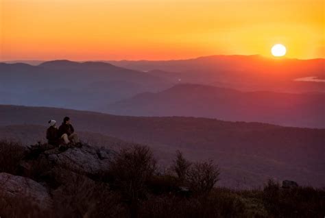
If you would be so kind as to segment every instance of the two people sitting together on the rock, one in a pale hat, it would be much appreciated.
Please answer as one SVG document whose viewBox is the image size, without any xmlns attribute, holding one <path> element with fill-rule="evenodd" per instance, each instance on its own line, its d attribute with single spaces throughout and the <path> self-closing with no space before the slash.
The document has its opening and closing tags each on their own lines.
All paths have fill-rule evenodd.
<svg viewBox="0 0 325 218">
<path fill-rule="evenodd" d="M 80 145 L 79 138 L 75 134 L 75 130 L 71 125 L 69 117 L 64 117 L 63 123 L 59 128 L 56 128 L 56 121 L 49 121 L 49 128 L 47 129 L 47 143 L 58 146 L 64 143 L 65 145 Z"/>
</svg>

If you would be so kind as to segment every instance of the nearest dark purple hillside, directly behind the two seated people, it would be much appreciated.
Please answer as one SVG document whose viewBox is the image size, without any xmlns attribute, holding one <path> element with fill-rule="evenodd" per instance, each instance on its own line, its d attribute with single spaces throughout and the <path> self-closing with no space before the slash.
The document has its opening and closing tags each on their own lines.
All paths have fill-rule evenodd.
<svg viewBox="0 0 325 218">
<path fill-rule="evenodd" d="M 267 178 L 324 186 L 325 130 L 191 117 L 120 117 L 96 112 L 0 106 L 0 125 L 46 125 L 69 116 L 77 131 L 97 132 L 147 144 L 160 165 L 176 149 L 190 160 L 212 158 L 222 169 L 220 184 L 261 186 Z M 31 129 L 32 130 L 32 129 Z M 28 130 L 30 131 L 30 130 Z M 43 131 L 43 130 L 42 130 Z M 13 134 L 22 134 L 12 130 Z"/>
</svg>

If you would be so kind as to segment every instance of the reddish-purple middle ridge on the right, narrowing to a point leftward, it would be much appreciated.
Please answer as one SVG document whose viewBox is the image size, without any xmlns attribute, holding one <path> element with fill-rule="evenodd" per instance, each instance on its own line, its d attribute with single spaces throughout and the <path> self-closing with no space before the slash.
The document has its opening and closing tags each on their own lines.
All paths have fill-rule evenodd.
<svg viewBox="0 0 325 218">
<path fill-rule="evenodd" d="M 325 94 L 241 92 L 180 84 L 158 93 L 142 93 L 110 104 L 105 112 L 132 116 L 208 117 L 277 125 L 325 128 Z"/>
</svg>

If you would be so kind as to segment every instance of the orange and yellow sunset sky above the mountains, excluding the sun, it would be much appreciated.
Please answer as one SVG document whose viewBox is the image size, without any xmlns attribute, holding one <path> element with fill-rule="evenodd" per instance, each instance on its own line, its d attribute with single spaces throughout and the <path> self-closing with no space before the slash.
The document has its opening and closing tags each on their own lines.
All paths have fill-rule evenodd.
<svg viewBox="0 0 325 218">
<path fill-rule="evenodd" d="M 324 0 L 0 2 L 0 60 L 325 58 Z"/>
</svg>

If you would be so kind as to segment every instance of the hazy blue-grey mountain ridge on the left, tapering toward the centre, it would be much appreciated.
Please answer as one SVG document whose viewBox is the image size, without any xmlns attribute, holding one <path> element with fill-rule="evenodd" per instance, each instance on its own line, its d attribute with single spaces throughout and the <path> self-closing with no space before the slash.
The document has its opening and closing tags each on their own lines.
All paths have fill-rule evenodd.
<svg viewBox="0 0 325 218">
<path fill-rule="evenodd" d="M 0 63 L 0 104 L 95 110 L 170 82 L 104 62 L 55 60 L 38 66 Z"/>
</svg>

